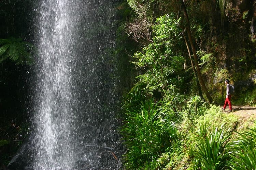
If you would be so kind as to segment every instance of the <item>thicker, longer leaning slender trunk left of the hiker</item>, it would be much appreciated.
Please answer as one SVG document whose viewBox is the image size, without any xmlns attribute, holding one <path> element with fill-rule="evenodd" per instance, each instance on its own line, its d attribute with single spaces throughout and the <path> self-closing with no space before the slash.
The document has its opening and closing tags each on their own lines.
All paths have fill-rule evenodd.
<svg viewBox="0 0 256 170">
<path fill-rule="evenodd" d="M 191 35 L 191 31 L 190 31 L 190 23 L 189 23 L 189 18 L 188 18 L 186 6 L 185 6 L 183 0 L 180 0 L 180 2 L 181 2 L 181 8 L 183 10 L 183 14 L 184 14 L 186 22 L 187 22 L 187 24 L 186 24 L 186 31 L 187 31 L 187 35 L 188 35 L 188 40 L 189 40 L 190 46 L 191 46 L 192 51 L 193 51 L 194 63 L 195 63 L 195 66 L 196 66 L 198 80 L 199 80 L 199 83 L 200 83 L 200 85 L 202 87 L 202 90 L 204 91 L 204 93 L 205 93 L 206 97 L 208 98 L 209 102 L 212 103 L 213 102 L 212 97 L 211 97 L 210 93 L 208 92 L 208 89 L 205 86 L 205 83 L 203 81 L 202 74 L 201 74 L 201 71 L 200 71 L 200 67 L 198 65 L 196 48 L 194 46 L 193 38 L 192 38 L 192 35 Z"/>
</svg>

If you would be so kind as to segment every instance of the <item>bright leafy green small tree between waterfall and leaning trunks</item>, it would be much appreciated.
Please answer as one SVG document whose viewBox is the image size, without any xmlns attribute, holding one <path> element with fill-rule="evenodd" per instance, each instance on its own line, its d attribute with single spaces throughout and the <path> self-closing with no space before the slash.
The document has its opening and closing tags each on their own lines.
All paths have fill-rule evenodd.
<svg viewBox="0 0 256 170">
<path fill-rule="evenodd" d="M 152 42 L 133 55 L 132 64 L 144 72 L 138 78 L 140 82 L 147 84 L 147 89 L 158 90 L 164 94 L 169 91 L 169 86 L 180 85 L 179 82 L 183 81 L 185 58 L 179 50 L 174 49 L 182 32 L 179 28 L 180 20 L 167 14 L 157 18 L 156 22 L 153 26 L 155 36 Z"/>
</svg>

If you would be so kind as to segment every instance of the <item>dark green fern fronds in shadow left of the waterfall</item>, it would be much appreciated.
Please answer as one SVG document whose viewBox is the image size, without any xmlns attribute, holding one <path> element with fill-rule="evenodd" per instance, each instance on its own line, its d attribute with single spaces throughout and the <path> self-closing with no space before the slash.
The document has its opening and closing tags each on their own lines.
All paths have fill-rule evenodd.
<svg viewBox="0 0 256 170">
<path fill-rule="evenodd" d="M 0 39 L 0 63 L 9 58 L 12 62 L 21 64 L 32 63 L 31 54 L 32 45 L 21 38 L 11 37 L 9 39 Z"/>
</svg>

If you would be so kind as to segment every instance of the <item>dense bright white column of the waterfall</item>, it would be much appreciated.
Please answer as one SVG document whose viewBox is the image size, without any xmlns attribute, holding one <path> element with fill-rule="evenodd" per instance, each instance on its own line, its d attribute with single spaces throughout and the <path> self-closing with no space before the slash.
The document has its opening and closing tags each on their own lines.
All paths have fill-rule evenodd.
<svg viewBox="0 0 256 170">
<path fill-rule="evenodd" d="M 37 107 L 33 169 L 70 169 L 75 22 L 68 1 L 42 1 L 38 36 Z M 79 17 L 79 16 L 78 16 Z"/>
</svg>

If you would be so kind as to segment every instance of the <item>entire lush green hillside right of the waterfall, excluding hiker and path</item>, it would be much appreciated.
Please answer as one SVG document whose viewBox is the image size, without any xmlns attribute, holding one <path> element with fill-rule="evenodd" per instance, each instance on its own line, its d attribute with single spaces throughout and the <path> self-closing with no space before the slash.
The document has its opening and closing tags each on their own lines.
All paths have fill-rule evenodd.
<svg viewBox="0 0 256 170">
<path fill-rule="evenodd" d="M 135 51 L 122 105 L 124 168 L 256 169 L 255 117 L 221 111 L 225 79 L 232 104 L 256 104 L 255 3 L 184 2 L 118 7 L 119 35 Z"/>
</svg>

